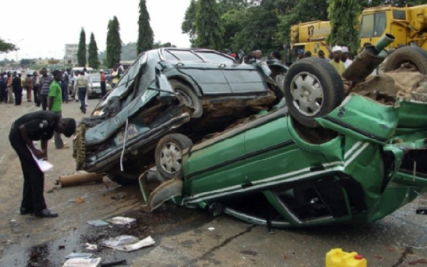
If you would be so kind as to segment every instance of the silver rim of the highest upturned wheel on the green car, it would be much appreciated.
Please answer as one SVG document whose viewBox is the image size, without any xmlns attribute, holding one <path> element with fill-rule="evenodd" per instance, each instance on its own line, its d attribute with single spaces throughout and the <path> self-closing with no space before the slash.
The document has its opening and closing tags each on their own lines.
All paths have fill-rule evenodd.
<svg viewBox="0 0 427 267">
<path fill-rule="evenodd" d="M 320 80 L 311 73 L 302 72 L 295 75 L 290 83 L 292 104 L 305 116 L 315 116 L 323 105 L 323 90 Z"/>
</svg>

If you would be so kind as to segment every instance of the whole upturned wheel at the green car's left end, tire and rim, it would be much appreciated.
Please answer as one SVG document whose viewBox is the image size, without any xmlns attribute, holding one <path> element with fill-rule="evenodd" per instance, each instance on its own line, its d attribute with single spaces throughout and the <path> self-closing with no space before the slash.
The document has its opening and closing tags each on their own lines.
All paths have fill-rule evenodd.
<svg viewBox="0 0 427 267">
<path fill-rule="evenodd" d="M 166 135 L 157 143 L 154 159 L 157 170 L 165 179 L 182 177 L 182 151 L 193 142 L 181 134 Z"/>
</svg>

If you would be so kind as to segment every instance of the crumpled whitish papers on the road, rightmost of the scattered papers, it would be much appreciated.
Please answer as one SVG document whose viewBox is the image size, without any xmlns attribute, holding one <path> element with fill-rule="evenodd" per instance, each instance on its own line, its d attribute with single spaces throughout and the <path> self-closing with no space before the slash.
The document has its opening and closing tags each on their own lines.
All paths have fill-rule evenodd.
<svg viewBox="0 0 427 267">
<path fill-rule="evenodd" d="M 151 236 L 146 237 L 145 239 L 139 240 L 135 236 L 117 236 L 113 239 L 105 240 L 101 243 L 102 246 L 107 248 L 114 248 L 118 251 L 131 252 L 136 251 L 139 248 L 144 248 L 146 246 L 152 246 L 156 243 Z"/>
</svg>

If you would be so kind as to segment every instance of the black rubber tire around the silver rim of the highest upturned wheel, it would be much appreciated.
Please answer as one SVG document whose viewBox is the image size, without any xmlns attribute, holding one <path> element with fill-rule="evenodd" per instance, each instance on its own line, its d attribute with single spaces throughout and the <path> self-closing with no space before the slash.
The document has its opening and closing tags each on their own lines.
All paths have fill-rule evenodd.
<svg viewBox="0 0 427 267">
<path fill-rule="evenodd" d="M 323 90 L 322 109 L 315 116 L 305 116 L 301 114 L 292 104 L 293 97 L 290 93 L 290 83 L 292 79 L 301 72 L 315 75 Z M 337 108 L 344 100 L 344 86 L 341 75 L 335 70 L 331 63 L 322 58 L 303 58 L 290 66 L 285 77 L 285 100 L 288 104 L 290 115 L 306 127 L 316 128 L 320 125 L 315 121 L 317 117 L 329 114 Z"/>
</svg>

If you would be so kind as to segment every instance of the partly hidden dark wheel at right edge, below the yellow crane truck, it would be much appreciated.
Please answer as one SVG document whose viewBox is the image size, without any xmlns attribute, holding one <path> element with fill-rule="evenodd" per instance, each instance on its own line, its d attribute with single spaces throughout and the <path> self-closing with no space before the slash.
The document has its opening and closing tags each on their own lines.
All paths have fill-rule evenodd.
<svg viewBox="0 0 427 267">
<path fill-rule="evenodd" d="M 418 46 L 404 46 L 394 51 L 384 63 L 384 72 L 397 70 L 404 63 L 411 63 L 421 74 L 427 74 L 427 52 Z"/>
</svg>

